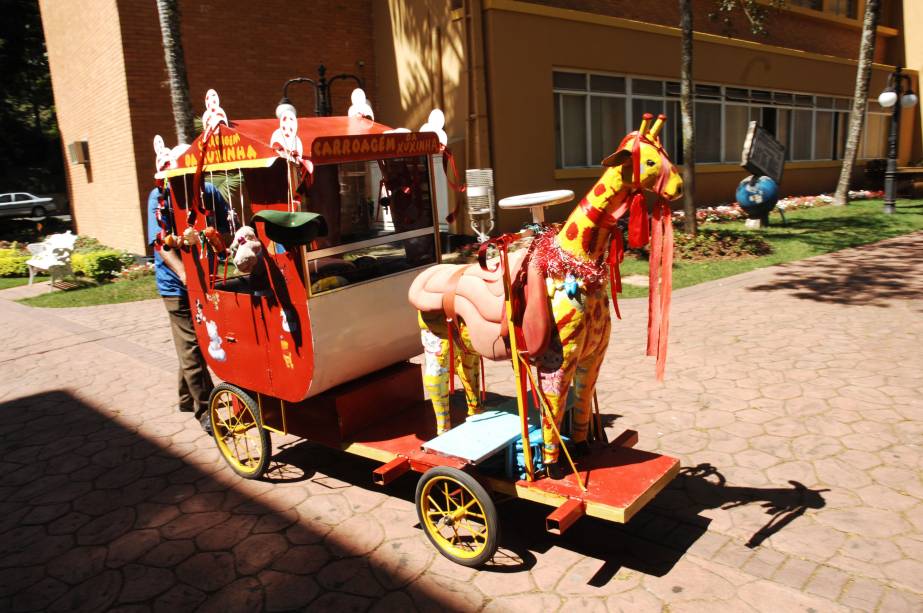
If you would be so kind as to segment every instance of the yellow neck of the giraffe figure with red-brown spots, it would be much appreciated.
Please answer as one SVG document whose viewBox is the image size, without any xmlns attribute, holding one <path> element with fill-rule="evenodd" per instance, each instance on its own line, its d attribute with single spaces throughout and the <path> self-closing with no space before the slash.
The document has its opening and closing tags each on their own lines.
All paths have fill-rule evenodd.
<svg viewBox="0 0 923 613">
<path fill-rule="evenodd" d="M 596 185 L 581 200 L 604 213 L 614 211 L 628 195 L 630 186 L 623 181 L 622 167 L 607 168 Z M 606 253 L 609 230 L 593 223 L 581 206 L 574 207 L 557 234 L 558 246 L 577 258 L 598 262 Z"/>
</svg>

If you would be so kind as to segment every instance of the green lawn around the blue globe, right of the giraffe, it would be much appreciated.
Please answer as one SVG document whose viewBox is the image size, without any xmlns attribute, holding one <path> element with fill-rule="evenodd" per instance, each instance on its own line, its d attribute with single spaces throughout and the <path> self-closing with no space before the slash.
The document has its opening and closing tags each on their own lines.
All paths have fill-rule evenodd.
<svg viewBox="0 0 923 613">
<path fill-rule="evenodd" d="M 874 243 L 886 238 L 923 230 L 923 201 L 899 200 L 897 212 L 885 215 L 881 200 L 852 202 L 845 207 L 823 206 L 785 214 L 782 225 L 778 212 L 770 216 L 773 224 L 764 230 L 747 230 L 743 222 L 710 223 L 700 228 L 721 228 L 739 232 L 762 232 L 773 252 L 766 256 L 728 260 L 677 261 L 673 268 L 673 287 L 679 289 L 705 281 L 721 279 L 764 266 L 802 260 L 822 253 Z M 646 260 L 625 257 L 622 277 L 647 275 Z M 621 296 L 647 296 L 646 287 L 622 284 Z"/>
</svg>

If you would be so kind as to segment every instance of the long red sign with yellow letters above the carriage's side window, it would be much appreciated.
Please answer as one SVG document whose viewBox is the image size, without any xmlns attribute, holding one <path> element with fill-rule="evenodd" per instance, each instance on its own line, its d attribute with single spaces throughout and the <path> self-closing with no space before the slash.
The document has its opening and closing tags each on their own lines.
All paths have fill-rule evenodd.
<svg viewBox="0 0 923 613">
<path fill-rule="evenodd" d="M 439 138 L 431 132 L 322 136 L 311 144 L 315 164 L 437 153 Z"/>
</svg>

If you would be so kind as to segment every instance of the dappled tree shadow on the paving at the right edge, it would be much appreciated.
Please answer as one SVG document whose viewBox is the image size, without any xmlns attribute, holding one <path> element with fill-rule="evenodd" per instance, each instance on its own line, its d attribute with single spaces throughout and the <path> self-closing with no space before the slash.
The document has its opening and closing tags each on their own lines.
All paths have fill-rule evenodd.
<svg viewBox="0 0 923 613">
<path fill-rule="evenodd" d="M 830 253 L 777 268 L 774 277 L 751 292 L 788 291 L 796 298 L 851 306 L 887 308 L 894 301 L 919 303 L 923 267 L 916 254 L 923 236 L 909 235 Z"/>
</svg>

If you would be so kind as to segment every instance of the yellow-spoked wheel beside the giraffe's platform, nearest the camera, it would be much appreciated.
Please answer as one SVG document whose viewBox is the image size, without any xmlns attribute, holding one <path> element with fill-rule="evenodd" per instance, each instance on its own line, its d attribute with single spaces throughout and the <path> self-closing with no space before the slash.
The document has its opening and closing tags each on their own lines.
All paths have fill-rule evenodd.
<svg viewBox="0 0 923 613">
<path fill-rule="evenodd" d="M 417 483 L 417 516 L 439 552 L 462 566 L 480 566 L 494 557 L 500 536 L 497 509 L 474 477 L 437 466 Z"/>
</svg>

